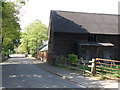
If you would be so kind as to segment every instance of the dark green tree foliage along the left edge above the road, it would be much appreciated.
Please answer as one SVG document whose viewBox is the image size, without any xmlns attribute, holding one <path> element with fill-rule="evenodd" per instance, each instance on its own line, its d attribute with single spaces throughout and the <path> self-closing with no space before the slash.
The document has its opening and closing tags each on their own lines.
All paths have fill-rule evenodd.
<svg viewBox="0 0 120 90">
<path fill-rule="evenodd" d="M 9 54 L 19 45 L 19 11 L 13 2 L 2 2 L 2 53 Z"/>
</svg>

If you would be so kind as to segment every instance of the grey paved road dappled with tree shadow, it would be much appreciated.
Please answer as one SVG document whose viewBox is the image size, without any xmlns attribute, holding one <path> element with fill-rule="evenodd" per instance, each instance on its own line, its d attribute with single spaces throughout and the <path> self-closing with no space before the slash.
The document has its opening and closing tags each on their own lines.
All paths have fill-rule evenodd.
<svg viewBox="0 0 120 90">
<path fill-rule="evenodd" d="M 69 80 L 40 68 L 34 59 L 12 57 L 2 65 L 4 88 L 81 88 Z"/>
</svg>

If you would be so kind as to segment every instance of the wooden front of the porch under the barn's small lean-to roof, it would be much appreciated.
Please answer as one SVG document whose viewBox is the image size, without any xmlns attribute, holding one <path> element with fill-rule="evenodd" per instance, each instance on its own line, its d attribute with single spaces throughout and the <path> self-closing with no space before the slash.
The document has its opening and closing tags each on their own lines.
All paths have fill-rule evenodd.
<svg viewBox="0 0 120 90">
<path fill-rule="evenodd" d="M 79 52 L 79 57 L 86 61 L 92 58 L 112 59 L 113 55 L 113 47 L 82 46 Z"/>
</svg>

